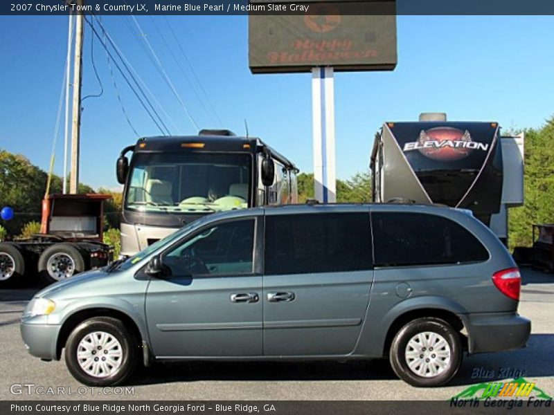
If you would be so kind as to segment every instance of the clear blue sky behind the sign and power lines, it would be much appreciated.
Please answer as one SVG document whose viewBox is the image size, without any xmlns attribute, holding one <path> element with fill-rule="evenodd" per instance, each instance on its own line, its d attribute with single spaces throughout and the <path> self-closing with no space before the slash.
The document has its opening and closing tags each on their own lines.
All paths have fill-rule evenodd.
<svg viewBox="0 0 554 415">
<path fill-rule="evenodd" d="M 126 17 L 105 26 L 177 124 L 187 120 Z M 179 94 L 202 127 L 217 127 L 163 44 L 152 19 L 177 56 L 163 17 L 137 17 Z M 251 75 L 247 18 L 168 17 L 225 128 L 260 136 L 312 171 L 309 74 Z M 127 23 L 126 23 L 127 22 Z M 398 17 L 398 65 L 393 72 L 337 73 L 337 175 L 368 166 L 375 131 L 385 120 L 415 120 L 421 111 L 445 111 L 451 120 L 497 120 L 506 129 L 539 127 L 554 114 L 554 17 Z M 87 28 L 88 29 L 88 28 Z M 47 169 L 66 53 L 66 17 L 0 17 L 0 147 Z M 83 95 L 96 93 L 90 31 L 85 39 Z M 95 60 L 105 92 L 84 102 L 80 181 L 116 185 L 120 149 L 136 136 L 122 115 L 105 53 Z M 190 68 L 183 65 L 189 77 Z M 116 75 L 129 118 L 141 136 L 158 133 L 125 82 Z M 55 173 L 62 173 L 63 135 Z"/>
</svg>

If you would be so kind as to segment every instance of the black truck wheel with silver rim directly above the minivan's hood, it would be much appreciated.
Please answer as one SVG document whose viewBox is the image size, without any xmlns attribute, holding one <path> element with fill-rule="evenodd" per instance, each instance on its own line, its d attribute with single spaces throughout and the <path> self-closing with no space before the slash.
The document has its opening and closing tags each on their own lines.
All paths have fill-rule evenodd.
<svg viewBox="0 0 554 415">
<path fill-rule="evenodd" d="M 71 243 L 55 243 L 42 252 L 38 268 L 42 279 L 52 284 L 84 271 L 84 258 Z"/>
</svg>

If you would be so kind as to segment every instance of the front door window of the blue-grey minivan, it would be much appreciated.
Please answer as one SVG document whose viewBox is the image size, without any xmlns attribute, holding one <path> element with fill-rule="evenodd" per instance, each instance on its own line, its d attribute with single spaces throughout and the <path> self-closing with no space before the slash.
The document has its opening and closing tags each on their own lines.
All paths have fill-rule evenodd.
<svg viewBox="0 0 554 415">
<path fill-rule="evenodd" d="M 252 273 L 254 223 L 242 219 L 204 228 L 166 252 L 162 263 L 173 276 Z"/>
</svg>

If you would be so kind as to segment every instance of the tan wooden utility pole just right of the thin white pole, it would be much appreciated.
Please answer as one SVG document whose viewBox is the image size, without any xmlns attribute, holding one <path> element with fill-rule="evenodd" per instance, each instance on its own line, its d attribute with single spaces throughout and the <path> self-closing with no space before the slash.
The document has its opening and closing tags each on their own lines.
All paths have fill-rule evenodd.
<svg viewBox="0 0 554 415">
<path fill-rule="evenodd" d="M 84 0 L 77 0 L 83 6 Z M 77 194 L 79 188 L 79 140 L 81 127 L 81 78 L 82 78 L 82 40 L 84 28 L 83 12 L 75 15 L 75 59 L 73 62 L 73 122 L 71 125 L 71 174 L 69 193 Z"/>
</svg>

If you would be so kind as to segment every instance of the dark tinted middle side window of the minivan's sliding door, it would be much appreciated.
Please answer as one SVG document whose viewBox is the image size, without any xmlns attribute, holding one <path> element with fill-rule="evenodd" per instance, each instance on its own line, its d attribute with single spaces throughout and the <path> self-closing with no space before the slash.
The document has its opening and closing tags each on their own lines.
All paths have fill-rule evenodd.
<svg viewBox="0 0 554 415">
<path fill-rule="evenodd" d="M 266 216 L 266 275 L 336 273 L 371 266 L 368 213 Z"/>
</svg>

